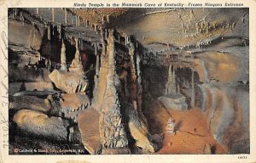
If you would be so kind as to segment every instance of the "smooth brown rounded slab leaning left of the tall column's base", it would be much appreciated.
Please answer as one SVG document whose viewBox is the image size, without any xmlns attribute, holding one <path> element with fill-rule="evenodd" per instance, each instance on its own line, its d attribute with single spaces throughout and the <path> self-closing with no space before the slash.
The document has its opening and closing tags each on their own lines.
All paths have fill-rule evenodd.
<svg viewBox="0 0 256 163">
<path fill-rule="evenodd" d="M 90 154 L 100 154 L 102 152 L 102 143 L 99 132 L 100 114 L 93 108 L 84 110 L 79 114 L 79 131 L 82 136 L 84 148 Z"/>
</svg>

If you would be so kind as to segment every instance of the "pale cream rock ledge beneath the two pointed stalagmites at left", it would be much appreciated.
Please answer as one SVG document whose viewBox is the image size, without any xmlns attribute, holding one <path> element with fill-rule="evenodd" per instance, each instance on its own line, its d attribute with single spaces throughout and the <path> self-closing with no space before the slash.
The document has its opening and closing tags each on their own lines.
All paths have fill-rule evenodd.
<svg viewBox="0 0 256 163">
<path fill-rule="evenodd" d="M 66 93 L 84 92 L 88 85 L 83 76 L 76 72 L 53 70 L 49 74 L 49 79 L 55 83 L 56 87 Z"/>
</svg>

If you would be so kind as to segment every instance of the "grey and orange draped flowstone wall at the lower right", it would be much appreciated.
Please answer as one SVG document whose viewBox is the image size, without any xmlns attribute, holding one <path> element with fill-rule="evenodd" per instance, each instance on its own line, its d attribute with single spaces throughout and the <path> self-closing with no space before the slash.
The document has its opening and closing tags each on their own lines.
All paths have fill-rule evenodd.
<svg viewBox="0 0 256 163">
<path fill-rule="evenodd" d="M 203 84 L 201 110 L 218 143 L 231 154 L 249 153 L 249 93 L 237 84 Z"/>
</svg>

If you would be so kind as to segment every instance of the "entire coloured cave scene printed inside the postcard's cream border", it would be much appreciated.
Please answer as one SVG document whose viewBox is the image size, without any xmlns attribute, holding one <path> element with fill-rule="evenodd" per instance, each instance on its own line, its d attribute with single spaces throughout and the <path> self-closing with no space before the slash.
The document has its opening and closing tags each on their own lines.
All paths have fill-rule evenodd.
<svg viewBox="0 0 256 163">
<path fill-rule="evenodd" d="M 9 8 L 9 154 L 249 154 L 248 12 Z"/>
</svg>

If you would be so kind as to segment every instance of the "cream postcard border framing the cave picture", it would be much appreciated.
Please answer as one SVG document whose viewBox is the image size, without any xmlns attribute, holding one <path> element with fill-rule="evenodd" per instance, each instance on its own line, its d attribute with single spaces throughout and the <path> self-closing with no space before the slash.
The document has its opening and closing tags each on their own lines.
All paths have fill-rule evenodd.
<svg viewBox="0 0 256 163">
<path fill-rule="evenodd" d="M 256 124 L 256 100 L 255 100 L 255 69 L 256 64 L 256 27 L 255 27 L 255 18 L 256 18 L 256 0 L 247 0 L 241 2 L 241 0 L 218 0 L 214 1 L 214 3 L 243 3 L 243 8 L 250 8 L 249 13 L 249 25 L 250 25 L 250 146 L 251 151 L 250 155 L 247 156 L 247 159 L 238 159 L 240 155 L 9 155 L 8 147 L 3 148 L 4 144 L 7 144 L 8 138 L 6 134 L 8 134 L 6 129 L 6 123 L 3 121 L 3 117 L 8 120 L 8 98 L 4 98 L 6 95 L 5 87 L 8 87 L 8 77 L 6 77 L 5 70 L 7 69 L 7 59 L 5 59 L 4 55 L 8 55 L 7 48 L 5 47 L 5 43 L 7 42 L 8 28 L 7 28 L 7 8 L 73 8 L 73 3 L 185 3 L 188 4 L 188 0 L 174 0 L 174 1 L 163 1 L 163 0 L 115 0 L 115 1 L 99 1 L 99 0 L 89 0 L 89 1 L 73 1 L 73 0 L 42 0 L 42 1 L 30 1 L 30 0 L 0 0 L 0 163 L 2 162 L 59 162 L 61 160 L 73 160 L 71 162 L 75 162 L 74 160 L 80 160 L 81 163 L 86 162 L 256 162 L 256 150 L 255 150 L 255 124 Z M 192 1 L 190 1 L 192 3 Z M 193 3 L 213 3 L 212 1 L 202 1 L 197 0 Z M 105 5 L 106 6 L 106 5 Z M 188 6 L 183 6 L 183 8 L 187 8 Z M 205 7 L 203 7 L 205 8 Z M 225 8 L 225 7 L 223 7 Z M 234 7 L 230 7 L 234 8 Z M 4 85 L 4 86 L 3 86 Z M 2 116 L 3 115 L 3 116 Z M 79 161 L 79 162 L 80 162 Z M 64 161 L 67 162 L 67 161 Z"/>
</svg>

